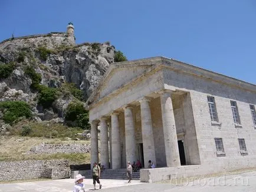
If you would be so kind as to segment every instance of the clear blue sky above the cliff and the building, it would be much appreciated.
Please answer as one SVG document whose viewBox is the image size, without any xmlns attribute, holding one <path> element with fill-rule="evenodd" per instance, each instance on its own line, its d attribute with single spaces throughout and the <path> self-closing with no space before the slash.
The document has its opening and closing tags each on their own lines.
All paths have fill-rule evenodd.
<svg viewBox="0 0 256 192">
<path fill-rule="evenodd" d="M 256 84 L 255 0 L 1 0 L 0 41 L 65 31 L 129 60 L 165 56 Z"/>
</svg>

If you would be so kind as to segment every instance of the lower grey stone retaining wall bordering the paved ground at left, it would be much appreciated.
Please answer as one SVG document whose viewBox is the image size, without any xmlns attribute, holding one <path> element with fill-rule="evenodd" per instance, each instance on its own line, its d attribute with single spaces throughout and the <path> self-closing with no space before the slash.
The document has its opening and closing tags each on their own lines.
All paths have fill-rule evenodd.
<svg viewBox="0 0 256 192">
<path fill-rule="evenodd" d="M 0 181 L 69 178 L 67 160 L 0 161 Z"/>
</svg>

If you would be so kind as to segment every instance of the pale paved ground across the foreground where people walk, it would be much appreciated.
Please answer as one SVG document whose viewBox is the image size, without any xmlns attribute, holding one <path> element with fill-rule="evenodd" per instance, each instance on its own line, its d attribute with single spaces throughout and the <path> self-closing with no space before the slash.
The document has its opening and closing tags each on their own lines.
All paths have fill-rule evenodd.
<svg viewBox="0 0 256 192">
<path fill-rule="evenodd" d="M 93 190 L 91 179 L 84 179 L 86 190 Z M 102 189 L 100 191 L 250 191 L 256 192 L 256 171 L 250 173 L 235 174 L 229 176 L 219 176 L 211 178 L 202 178 L 199 180 L 185 182 L 183 184 L 175 183 L 140 183 L 140 181 L 132 181 L 127 183 L 127 180 L 101 180 Z M 71 192 L 74 186 L 74 179 L 64 180 L 47 180 L 34 181 L 27 183 L 11 183 L 0 184 L 0 192 L 18 192 L 18 191 L 47 191 L 47 192 Z M 99 189 L 99 184 L 96 186 Z M 118 187 L 118 189 L 117 189 Z"/>
</svg>

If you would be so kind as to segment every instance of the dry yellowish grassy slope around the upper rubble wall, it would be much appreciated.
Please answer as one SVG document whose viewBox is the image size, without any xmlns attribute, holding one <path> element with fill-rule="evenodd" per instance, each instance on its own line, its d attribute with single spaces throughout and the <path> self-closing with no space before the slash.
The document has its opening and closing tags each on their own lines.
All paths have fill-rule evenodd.
<svg viewBox="0 0 256 192">
<path fill-rule="evenodd" d="M 34 145 L 90 144 L 90 141 L 62 141 L 61 138 L 0 136 L 0 161 L 65 159 L 73 164 L 90 163 L 90 154 L 26 154 Z"/>
</svg>

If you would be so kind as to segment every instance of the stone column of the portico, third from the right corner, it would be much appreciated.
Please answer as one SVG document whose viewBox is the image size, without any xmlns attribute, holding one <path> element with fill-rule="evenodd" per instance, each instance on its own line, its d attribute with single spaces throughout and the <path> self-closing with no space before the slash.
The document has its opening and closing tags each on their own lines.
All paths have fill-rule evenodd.
<svg viewBox="0 0 256 192">
<path fill-rule="evenodd" d="M 125 144 L 126 144 L 126 162 L 136 162 L 136 140 L 133 121 L 133 108 L 124 107 L 124 126 L 125 126 Z"/>
</svg>

